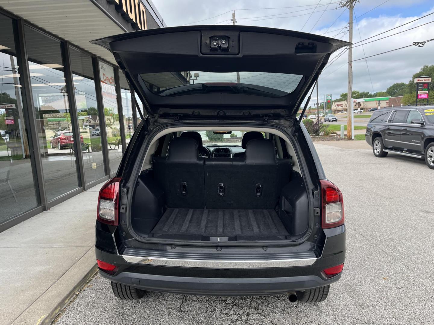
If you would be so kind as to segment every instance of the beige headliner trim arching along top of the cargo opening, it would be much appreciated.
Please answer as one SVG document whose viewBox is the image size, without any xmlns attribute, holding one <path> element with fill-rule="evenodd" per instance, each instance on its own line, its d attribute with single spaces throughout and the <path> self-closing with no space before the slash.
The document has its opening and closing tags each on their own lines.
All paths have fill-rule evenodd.
<svg viewBox="0 0 434 325">
<path fill-rule="evenodd" d="M 196 127 L 195 130 L 211 130 L 211 131 L 227 131 L 228 127 Z M 285 136 L 282 132 L 275 129 L 269 129 L 266 127 L 230 127 L 231 131 L 257 131 L 260 130 L 261 132 L 265 133 L 271 133 L 275 134 L 276 136 L 281 137 L 283 140 L 285 140 L 286 143 L 286 149 L 288 150 L 289 155 L 292 157 L 293 161 L 293 169 L 297 172 L 300 172 L 299 169 L 299 163 L 297 160 L 296 153 L 293 149 L 293 146 L 291 145 L 289 139 L 287 136 Z M 146 150 L 145 159 L 143 161 L 142 170 L 149 169 L 152 167 L 152 154 L 155 153 L 155 150 L 158 146 L 158 139 L 160 139 L 162 136 L 165 136 L 166 134 L 172 133 L 172 132 L 179 132 L 179 131 L 191 131 L 191 127 L 169 127 L 168 129 L 164 129 L 161 132 L 155 134 L 154 138 L 152 139 L 151 145 L 148 146 L 148 150 Z"/>
</svg>

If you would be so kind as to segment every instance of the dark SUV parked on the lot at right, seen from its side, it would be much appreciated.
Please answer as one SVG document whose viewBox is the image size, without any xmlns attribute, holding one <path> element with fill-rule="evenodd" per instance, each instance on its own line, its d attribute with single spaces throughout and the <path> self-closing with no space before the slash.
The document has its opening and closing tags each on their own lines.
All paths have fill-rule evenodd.
<svg viewBox="0 0 434 325">
<path fill-rule="evenodd" d="M 366 142 L 376 157 L 398 153 L 425 159 L 434 169 L 434 106 L 376 110 L 366 127 Z"/>
</svg>

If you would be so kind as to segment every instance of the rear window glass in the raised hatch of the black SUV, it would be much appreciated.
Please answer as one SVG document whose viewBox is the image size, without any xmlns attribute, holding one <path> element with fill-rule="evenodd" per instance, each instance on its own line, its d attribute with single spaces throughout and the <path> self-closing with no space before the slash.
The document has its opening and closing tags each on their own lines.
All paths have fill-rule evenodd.
<svg viewBox="0 0 434 325">
<path fill-rule="evenodd" d="M 145 86 L 161 96 L 228 92 L 281 97 L 293 92 L 302 75 L 272 72 L 159 72 L 140 75 Z"/>
</svg>

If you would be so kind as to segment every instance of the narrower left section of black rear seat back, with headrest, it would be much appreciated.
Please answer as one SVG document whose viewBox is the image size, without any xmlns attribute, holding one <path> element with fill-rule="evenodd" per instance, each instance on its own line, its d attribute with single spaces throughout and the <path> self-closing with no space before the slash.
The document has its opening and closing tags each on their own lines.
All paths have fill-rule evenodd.
<svg viewBox="0 0 434 325">
<path fill-rule="evenodd" d="M 204 208 L 204 158 L 192 138 L 175 138 L 167 157 L 154 157 L 155 177 L 169 208 Z"/>
</svg>

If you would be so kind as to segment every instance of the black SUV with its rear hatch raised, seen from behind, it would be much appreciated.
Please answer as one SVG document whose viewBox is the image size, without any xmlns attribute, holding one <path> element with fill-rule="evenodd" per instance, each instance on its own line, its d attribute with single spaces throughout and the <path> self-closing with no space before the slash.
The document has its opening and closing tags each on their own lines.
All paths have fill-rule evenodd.
<svg viewBox="0 0 434 325">
<path fill-rule="evenodd" d="M 253 26 L 94 43 L 113 52 L 148 114 L 99 193 L 96 257 L 115 296 L 323 301 L 345 259 L 342 193 L 296 113 L 349 43 Z"/>
</svg>

